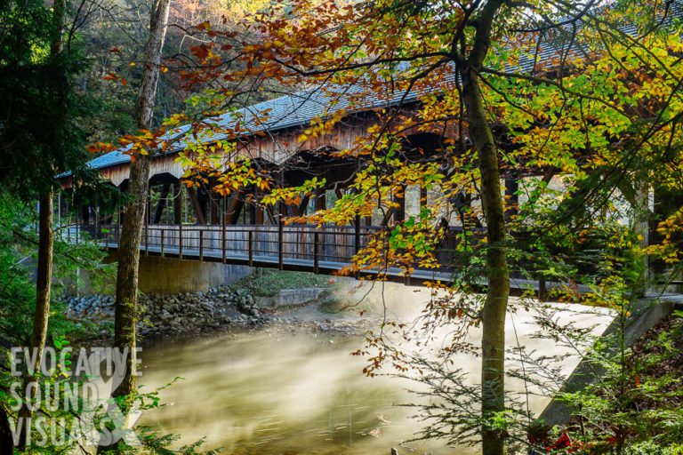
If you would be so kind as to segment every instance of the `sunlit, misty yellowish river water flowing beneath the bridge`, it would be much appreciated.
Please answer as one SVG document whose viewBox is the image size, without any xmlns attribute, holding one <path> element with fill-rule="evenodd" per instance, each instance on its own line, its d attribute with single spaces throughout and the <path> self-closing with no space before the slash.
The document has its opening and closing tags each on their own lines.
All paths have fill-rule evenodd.
<svg viewBox="0 0 683 455">
<path fill-rule="evenodd" d="M 375 314 L 384 312 L 383 294 L 384 301 L 390 303 L 388 316 L 403 321 L 419 315 L 430 298 L 424 288 L 401 284 L 388 283 L 383 289 L 376 286 L 366 295 L 368 290 L 365 284 L 348 286 L 340 292 L 349 304 L 362 299 L 359 307 Z M 583 327 L 595 324 L 593 331 L 597 333 L 611 320 L 600 309 L 554 305 L 561 309 L 558 321 L 572 321 Z M 521 343 L 547 355 L 566 352 L 548 339 L 536 338 L 538 331 L 534 309 L 508 315 L 508 346 Z M 436 332 L 432 352 L 442 345 L 447 332 L 446 328 Z M 480 338 L 480 330 L 472 328 L 468 340 L 477 346 Z M 365 359 L 350 355 L 363 346 L 362 337 L 305 331 L 283 335 L 261 330 L 211 339 L 164 341 L 145 347 L 141 355 L 143 391 L 161 387 L 175 377 L 183 380 L 162 391 L 162 403 L 166 405 L 145 411 L 138 424 L 181 435 L 178 446 L 205 437 L 205 449 L 221 447 L 230 454 L 382 455 L 389 454 L 392 447 L 401 454 L 476 452 L 468 447 L 448 448 L 439 441 L 406 443 L 401 447 L 401 442 L 413 438 L 423 423 L 411 419 L 416 410 L 399 404 L 414 403 L 416 396 L 407 389 L 421 385 L 396 377 L 364 376 Z M 414 345 L 403 348 L 411 351 Z M 459 354 L 454 356 L 454 362 L 471 373 L 473 383 L 478 380 L 477 357 Z M 577 363 L 578 357 L 565 359 L 561 365 L 564 374 L 568 375 Z M 390 368 L 386 371 L 392 372 Z M 525 390 L 519 379 L 509 378 L 506 382 L 509 389 Z M 538 413 L 549 400 L 533 396 L 529 408 Z"/>
</svg>

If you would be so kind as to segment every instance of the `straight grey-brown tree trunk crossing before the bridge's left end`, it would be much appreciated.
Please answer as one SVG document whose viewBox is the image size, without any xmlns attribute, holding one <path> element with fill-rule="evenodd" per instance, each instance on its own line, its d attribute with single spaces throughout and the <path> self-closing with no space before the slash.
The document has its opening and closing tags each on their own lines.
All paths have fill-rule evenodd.
<svg viewBox="0 0 683 455">
<path fill-rule="evenodd" d="M 170 0 L 157 0 L 149 20 L 149 38 L 145 49 L 145 68 L 138 92 L 136 120 L 138 128 L 149 130 L 152 124 L 154 99 L 157 93 L 159 66 L 164 47 Z M 136 329 L 138 303 L 138 269 L 145 206 L 149 190 L 149 168 L 154 150 L 147 155 L 133 156 L 128 193 L 131 202 L 125 207 L 121 242 L 118 249 L 117 301 L 114 322 L 114 344 L 128 348 L 125 377 L 114 391 L 115 396 L 129 395 L 136 387 Z"/>
</svg>

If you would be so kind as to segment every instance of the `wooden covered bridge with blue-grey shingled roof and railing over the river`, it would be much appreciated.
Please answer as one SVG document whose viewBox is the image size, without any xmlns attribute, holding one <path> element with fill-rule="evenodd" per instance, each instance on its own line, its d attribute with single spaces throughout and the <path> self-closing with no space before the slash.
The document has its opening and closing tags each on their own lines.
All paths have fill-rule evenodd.
<svg viewBox="0 0 683 455">
<path fill-rule="evenodd" d="M 277 173 L 278 184 L 284 187 L 299 186 L 312 177 L 325 179 L 325 188 L 319 188 L 315 195 L 301 197 L 299 204 L 280 204 L 277 209 L 261 204 L 258 190 L 236 191 L 223 197 L 214 191 L 211 184 L 187 188 L 183 184 L 185 169 L 177 159 L 187 143 L 180 141 L 172 151 L 154 156 L 141 253 L 321 274 L 334 273 L 349 266 L 351 258 L 366 246 L 371 235 L 391 228 L 406 216 L 417 215 L 423 204 L 429 204 L 425 188 L 406 188 L 404 194 L 395 199 L 395 207 L 373 216 L 356 217 L 348 226 L 317 227 L 288 224 L 282 220 L 330 208 L 350 191 L 358 163 L 354 159 L 337 157 L 333 152 L 350 148 L 359 135 L 376 124 L 376 109 L 396 105 L 400 100 L 401 108 L 410 112 L 416 98 L 412 93 L 405 97 L 403 93 L 397 93 L 388 100 L 365 100 L 363 104 L 359 103 L 359 108 L 350 110 L 350 115 L 335 126 L 333 134 L 303 141 L 300 140 L 301 132 L 310 121 L 329 114 L 329 100 L 325 92 L 301 92 L 242 109 L 242 119 L 256 118 L 263 111 L 269 112 L 268 121 L 251 125 L 246 129 L 252 134 L 238 139 L 242 156 L 248 156 L 261 169 Z M 350 98 L 349 102 L 352 100 Z M 235 122 L 234 116 L 229 114 L 217 121 L 223 126 Z M 254 134 L 259 131 L 262 133 Z M 184 132 L 187 129 L 181 131 Z M 438 150 L 446 138 L 455 134 L 453 127 L 439 133 L 408 132 L 406 157 L 411 160 L 442 160 L 443 154 Z M 220 139 L 212 137 L 211 140 Z M 92 160 L 90 166 L 113 186 L 125 189 L 130 156 L 124 150 L 100 156 Z M 69 176 L 62 179 L 62 185 L 70 187 Z M 505 188 L 511 199 L 517 197 L 514 194 L 517 182 L 513 177 L 505 180 Z M 60 201 L 59 206 L 64 204 L 68 203 Z M 109 250 L 117 249 L 121 234 L 120 212 L 108 210 L 104 204 L 98 204 L 97 199 L 78 207 L 75 212 L 78 220 L 66 235 L 73 239 L 85 235 Z M 449 281 L 452 278 L 453 272 L 448 265 L 453 259 L 458 220 L 453 213 L 445 213 L 444 220 L 448 220 L 444 223 L 451 223 L 451 234 L 446 235 L 446 241 L 438 252 L 439 261 L 444 266 L 438 270 L 415 270 L 411 276 L 405 276 L 398 268 L 389 269 L 387 275 L 390 278 L 414 283 Z"/>
</svg>

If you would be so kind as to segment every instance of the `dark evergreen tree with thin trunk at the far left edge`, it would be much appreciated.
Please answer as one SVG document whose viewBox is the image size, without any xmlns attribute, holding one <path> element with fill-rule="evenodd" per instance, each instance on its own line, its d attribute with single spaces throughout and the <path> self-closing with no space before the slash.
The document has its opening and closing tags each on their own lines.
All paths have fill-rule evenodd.
<svg viewBox="0 0 683 455">
<path fill-rule="evenodd" d="M 9 101 L 0 122 L 0 148 L 5 154 L 0 180 L 12 188 L 12 196 L 39 202 L 36 307 L 28 343 L 36 351 L 36 361 L 28 365 L 24 377 L 28 383 L 37 378 L 48 333 L 55 178 L 69 169 L 88 179 L 85 134 L 77 126 L 83 107 L 73 92 L 82 60 L 65 42 L 66 0 L 56 2 L 52 12 L 39 2 L 9 2 L 0 14 L 4 24 L 12 24 L 3 28 L 0 40 L 0 90 Z M 30 416 L 28 408 L 21 416 Z"/>
</svg>

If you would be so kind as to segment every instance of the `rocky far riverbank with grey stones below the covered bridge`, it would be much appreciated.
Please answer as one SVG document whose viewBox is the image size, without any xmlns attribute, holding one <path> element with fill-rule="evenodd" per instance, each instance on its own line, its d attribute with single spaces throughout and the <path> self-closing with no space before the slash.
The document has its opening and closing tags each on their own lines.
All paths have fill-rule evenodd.
<svg viewBox="0 0 683 455">
<path fill-rule="evenodd" d="M 67 316 L 72 319 L 106 324 L 114 318 L 114 297 L 103 294 L 74 297 L 67 300 L 67 308 Z M 229 286 L 206 292 L 148 294 L 140 299 L 139 331 L 148 338 L 201 336 L 264 327 L 272 333 L 319 331 L 354 335 L 371 325 L 367 319 L 325 315 L 317 309 L 317 302 L 298 307 L 259 307 L 248 291 Z M 105 329 L 100 331 L 101 337 L 109 335 Z"/>
</svg>

